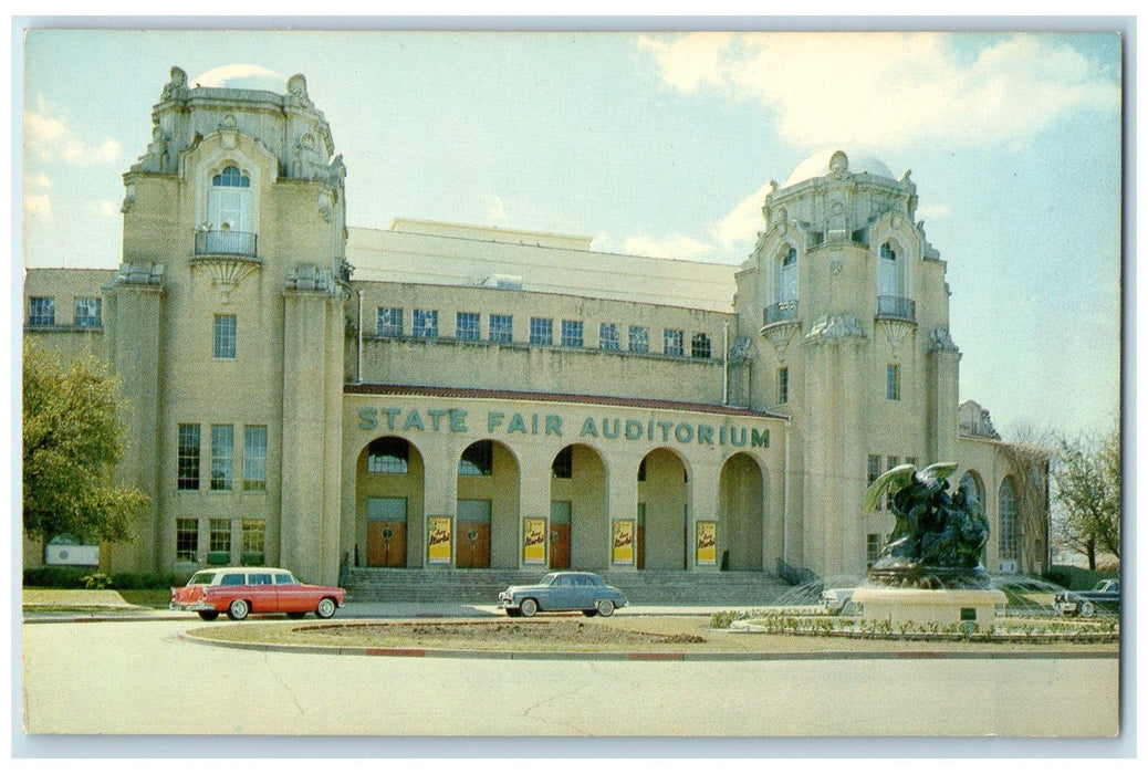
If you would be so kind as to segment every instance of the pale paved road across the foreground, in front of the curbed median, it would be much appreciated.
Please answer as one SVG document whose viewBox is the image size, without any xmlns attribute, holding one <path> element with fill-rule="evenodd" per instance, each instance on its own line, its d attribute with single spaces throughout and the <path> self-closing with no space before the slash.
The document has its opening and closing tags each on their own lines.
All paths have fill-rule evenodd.
<svg viewBox="0 0 1148 774">
<path fill-rule="evenodd" d="M 178 638 L 199 626 L 186 619 L 24 625 L 26 730 L 1104 736 L 1117 729 L 1116 658 L 631 663 L 310 656 Z"/>
</svg>

